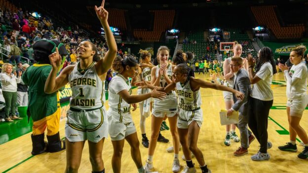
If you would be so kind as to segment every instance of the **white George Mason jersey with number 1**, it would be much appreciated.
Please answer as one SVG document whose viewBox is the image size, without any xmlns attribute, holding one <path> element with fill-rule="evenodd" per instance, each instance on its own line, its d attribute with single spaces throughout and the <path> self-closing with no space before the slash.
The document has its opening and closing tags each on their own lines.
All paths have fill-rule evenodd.
<svg viewBox="0 0 308 173">
<path fill-rule="evenodd" d="M 94 62 L 84 74 L 78 71 L 78 64 L 69 75 L 72 97 L 70 106 L 77 109 L 94 109 L 104 105 L 103 82 L 97 75 Z"/>
</svg>

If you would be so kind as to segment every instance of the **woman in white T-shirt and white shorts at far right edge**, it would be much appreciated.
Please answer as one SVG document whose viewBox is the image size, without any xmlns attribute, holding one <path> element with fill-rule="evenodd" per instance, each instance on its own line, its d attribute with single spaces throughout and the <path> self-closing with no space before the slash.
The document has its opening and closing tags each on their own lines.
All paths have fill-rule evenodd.
<svg viewBox="0 0 308 173">
<path fill-rule="evenodd" d="M 283 71 L 285 81 L 287 82 L 287 115 L 289 121 L 290 142 L 287 145 L 279 146 L 283 151 L 297 151 L 296 136 L 300 137 L 305 144 L 304 151 L 297 157 L 300 159 L 308 158 L 308 137 L 305 130 L 301 127 L 300 121 L 303 112 L 308 104 L 307 95 L 307 67 L 302 63 L 304 53 L 307 48 L 304 45 L 297 46 L 290 53 L 290 62 L 293 66 L 288 71 L 288 67 L 279 63 L 279 69 Z"/>
</svg>

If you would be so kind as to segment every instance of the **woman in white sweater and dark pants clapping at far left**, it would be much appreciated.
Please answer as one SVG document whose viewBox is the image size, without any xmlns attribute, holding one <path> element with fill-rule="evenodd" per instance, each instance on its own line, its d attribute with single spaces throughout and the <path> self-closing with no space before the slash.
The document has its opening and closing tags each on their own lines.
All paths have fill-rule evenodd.
<svg viewBox="0 0 308 173">
<path fill-rule="evenodd" d="M 12 73 L 13 66 L 5 63 L 2 66 L 2 72 L 0 73 L 0 80 L 2 86 L 2 94 L 5 100 L 5 121 L 13 122 L 12 119 L 22 119 L 16 116 L 16 103 L 17 103 L 17 83 L 20 83 L 21 72 Z M 12 118 L 9 117 L 11 110 Z"/>
</svg>

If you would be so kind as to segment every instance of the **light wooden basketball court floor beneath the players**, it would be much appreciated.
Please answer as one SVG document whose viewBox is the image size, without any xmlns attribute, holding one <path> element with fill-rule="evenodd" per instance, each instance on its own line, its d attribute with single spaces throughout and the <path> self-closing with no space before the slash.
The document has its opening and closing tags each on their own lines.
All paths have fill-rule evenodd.
<svg viewBox="0 0 308 173">
<path fill-rule="evenodd" d="M 209 74 L 196 74 L 197 78 L 209 79 Z M 269 161 L 254 162 L 250 157 L 257 153 L 259 143 L 254 140 L 249 148 L 247 155 L 236 157 L 233 152 L 240 146 L 240 142 L 231 142 L 230 146 L 224 145 L 226 135 L 225 126 L 220 125 L 219 111 L 225 108 L 222 91 L 212 89 L 201 89 L 201 108 L 203 110 L 203 124 L 199 134 L 198 146 L 203 152 L 205 162 L 212 173 L 307 173 L 308 160 L 301 160 L 297 155 L 303 151 L 299 144 L 298 152 L 283 152 L 277 147 L 284 145 L 289 141 L 288 121 L 286 115 L 286 86 L 283 73 L 275 74 L 271 85 L 274 93 L 273 106 L 269 112 L 269 141 L 273 147 L 268 150 L 271 158 Z M 137 89 L 133 90 L 136 94 Z M 108 103 L 105 104 L 108 109 Z M 60 122 L 60 136 L 64 137 L 64 126 L 66 120 L 66 110 L 68 104 L 62 105 L 62 119 Z M 262 108 L 262 107 L 260 107 Z M 306 108 L 308 109 L 308 108 Z M 143 163 L 148 156 L 148 149 L 141 144 L 141 134 L 139 128 L 140 111 L 139 108 L 132 112 L 133 120 L 137 129 L 140 141 L 140 150 Z M 150 138 L 151 118 L 147 119 L 147 136 Z M 308 132 L 308 110 L 304 112 L 301 121 L 302 127 Z M 37 156 L 31 155 L 32 123 L 27 123 L 26 118 L 15 121 L 14 123 L 3 122 L 0 124 L 0 173 L 64 173 L 66 167 L 66 153 L 60 151 L 57 153 L 43 153 Z M 238 130 L 236 133 L 239 135 Z M 169 131 L 162 131 L 163 136 L 170 139 Z M 173 153 L 168 153 L 166 148 L 172 143 L 157 143 L 154 153 L 154 170 L 158 173 L 171 173 L 173 162 Z M 79 173 L 91 173 L 91 164 L 89 161 L 88 145 L 84 146 L 82 153 Z M 112 173 L 111 158 L 113 146 L 110 138 L 105 140 L 103 149 L 103 160 L 106 173 Z M 183 155 L 180 151 L 179 157 Z M 193 163 L 197 168 L 197 173 L 201 173 L 197 161 L 193 158 Z M 184 169 L 186 162 L 180 160 Z M 136 166 L 130 156 L 130 147 L 126 142 L 122 155 L 122 173 L 137 173 Z"/>
</svg>

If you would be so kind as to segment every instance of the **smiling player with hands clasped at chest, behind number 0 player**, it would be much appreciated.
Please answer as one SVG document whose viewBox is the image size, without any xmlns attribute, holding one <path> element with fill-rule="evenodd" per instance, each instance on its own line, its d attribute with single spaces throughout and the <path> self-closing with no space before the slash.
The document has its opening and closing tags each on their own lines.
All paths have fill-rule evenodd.
<svg viewBox="0 0 308 173">
<path fill-rule="evenodd" d="M 172 65 L 168 64 L 169 49 L 166 46 L 160 46 L 157 54 L 159 59 L 159 65 L 155 66 L 151 71 L 151 83 L 154 86 L 165 87 L 171 83 Z M 178 106 L 175 91 L 167 93 L 167 97 L 164 100 L 154 99 L 154 108 L 152 110 L 152 122 L 151 122 L 151 139 L 149 145 L 148 159 L 146 162 L 146 170 L 153 169 L 153 155 L 157 143 L 157 138 L 160 135 L 159 129 L 163 118 L 167 116 L 170 125 L 170 132 L 173 138 L 174 146 L 174 161 L 172 164 L 172 171 L 178 172 L 180 170 L 179 162 L 179 135 L 176 128 Z"/>
</svg>

